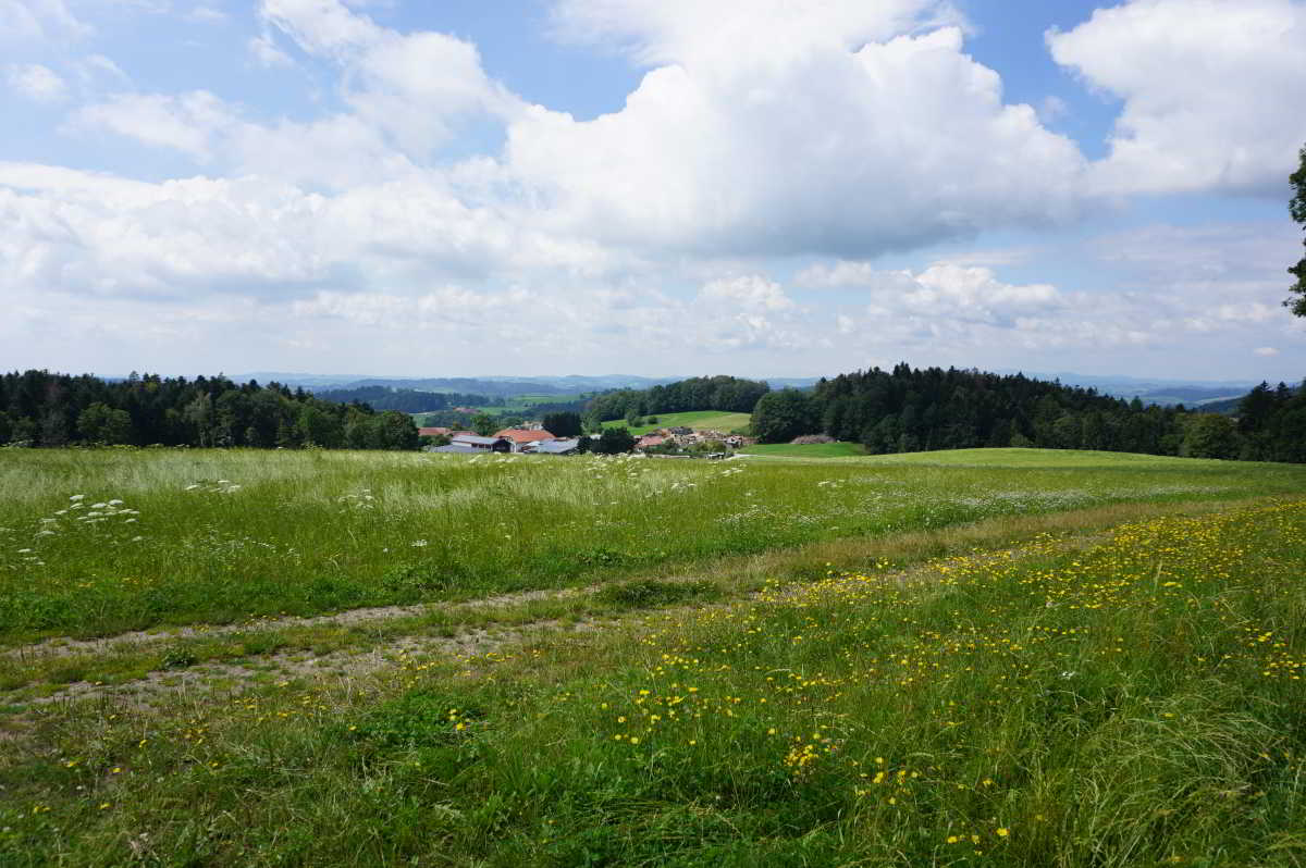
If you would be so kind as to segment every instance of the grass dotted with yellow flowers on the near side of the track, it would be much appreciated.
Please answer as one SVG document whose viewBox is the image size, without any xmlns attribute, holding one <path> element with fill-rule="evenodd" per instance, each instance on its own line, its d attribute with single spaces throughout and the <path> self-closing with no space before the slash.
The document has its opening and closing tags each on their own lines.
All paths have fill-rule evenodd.
<svg viewBox="0 0 1306 868">
<path fill-rule="evenodd" d="M 387 677 L 51 709 L 0 754 L 0 861 L 1298 864 L 1306 504 L 1033 544 Z"/>
</svg>

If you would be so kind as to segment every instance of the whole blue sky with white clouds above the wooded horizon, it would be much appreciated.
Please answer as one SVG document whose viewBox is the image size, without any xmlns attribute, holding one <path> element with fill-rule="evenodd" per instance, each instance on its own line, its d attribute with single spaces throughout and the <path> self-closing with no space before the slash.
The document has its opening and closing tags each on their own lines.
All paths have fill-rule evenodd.
<svg viewBox="0 0 1306 868">
<path fill-rule="evenodd" d="M 0 364 L 1297 381 L 1301 0 L 0 0 Z"/>
</svg>

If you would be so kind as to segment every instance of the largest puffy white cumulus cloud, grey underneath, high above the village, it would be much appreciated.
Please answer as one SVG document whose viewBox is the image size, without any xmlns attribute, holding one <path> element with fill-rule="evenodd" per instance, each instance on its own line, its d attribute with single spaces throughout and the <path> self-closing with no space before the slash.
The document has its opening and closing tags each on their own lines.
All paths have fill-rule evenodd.
<svg viewBox="0 0 1306 868">
<path fill-rule="evenodd" d="M 650 70 L 622 111 L 576 121 L 535 107 L 509 125 L 511 171 L 560 225 L 658 249 L 867 257 L 1049 226 L 1083 206 L 1077 147 L 1006 104 L 960 30 L 850 50 L 799 29 L 803 51 L 768 54 L 765 16 L 695 9 L 692 33 L 725 26 L 725 9 L 735 31 L 760 29 L 761 46 L 739 35 L 747 48 L 712 54 L 675 29 L 652 56 L 686 60 Z"/>
</svg>

